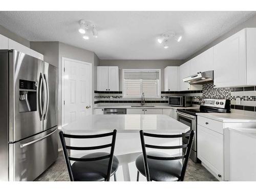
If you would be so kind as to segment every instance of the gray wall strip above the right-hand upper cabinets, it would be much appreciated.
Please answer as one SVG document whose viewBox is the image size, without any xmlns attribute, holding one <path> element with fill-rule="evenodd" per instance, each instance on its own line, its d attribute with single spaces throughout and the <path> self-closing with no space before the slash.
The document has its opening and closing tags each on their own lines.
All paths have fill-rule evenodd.
<svg viewBox="0 0 256 192">
<path fill-rule="evenodd" d="M 244 28 L 250 28 L 250 27 L 256 27 L 256 15 L 252 16 L 251 18 L 246 20 L 244 23 L 238 25 L 237 27 L 231 29 L 230 31 L 228 31 L 224 35 L 220 36 L 219 38 L 215 39 L 209 45 L 205 46 L 204 48 L 200 49 L 199 51 L 197 51 L 196 53 L 194 53 L 190 57 L 186 58 L 184 60 L 184 62 L 196 57 L 197 55 L 206 51 L 207 49 L 209 49 L 211 47 L 214 47 L 215 45 L 219 44 L 219 42 L 223 41 L 224 39 L 228 38 L 229 36 L 233 35 L 234 33 L 237 33 L 237 32 L 239 32 L 240 30 L 242 30 Z"/>
</svg>

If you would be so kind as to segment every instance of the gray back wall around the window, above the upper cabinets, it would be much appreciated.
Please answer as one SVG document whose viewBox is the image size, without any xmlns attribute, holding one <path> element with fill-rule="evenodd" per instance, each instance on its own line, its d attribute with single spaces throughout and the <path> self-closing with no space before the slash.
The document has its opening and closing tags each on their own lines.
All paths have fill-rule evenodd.
<svg viewBox="0 0 256 192">
<path fill-rule="evenodd" d="M 118 66 L 119 91 L 122 91 L 122 69 L 161 69 L 161 90 L 164 90 L 164 68 L 180 66 L 183 60 L 100 60 L 100 66 Z"/>
</svg>

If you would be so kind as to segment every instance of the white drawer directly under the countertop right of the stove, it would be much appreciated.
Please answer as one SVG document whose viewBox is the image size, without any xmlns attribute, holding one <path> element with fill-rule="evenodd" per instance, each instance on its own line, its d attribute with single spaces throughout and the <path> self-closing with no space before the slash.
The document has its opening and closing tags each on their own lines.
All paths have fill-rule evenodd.
<svg viewBox="0 0 256 192">
<path fill-rule="evenodd" d="M 220 121 L 197 116 L 197 124 L 200 124 L 201 126 L 204 126 L 208 129 L 218 132 L 220 134 L 223 134 L 223 132 L 224 132 L 223 131 L 223 123 Z"/>
</svg>

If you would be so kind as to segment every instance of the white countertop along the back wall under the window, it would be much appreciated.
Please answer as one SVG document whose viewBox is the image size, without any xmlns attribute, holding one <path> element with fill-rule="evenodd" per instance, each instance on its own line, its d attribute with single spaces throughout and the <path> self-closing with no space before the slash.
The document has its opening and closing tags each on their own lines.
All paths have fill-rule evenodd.
<svg viewBox="0 0 256 192">
<path fill-rule="evenodd" d="M 135 104 L 136 105 L 136 104 Z M 94 109 L 199 109 L 199 107 L 188 106 L 187 108 L 183 108 L 180 106 L 169 106 L 169 105 L 154 105 L 148 104 L 143 107 L 138 105 L 97 105 L 94 106 Z"/>
</svg>

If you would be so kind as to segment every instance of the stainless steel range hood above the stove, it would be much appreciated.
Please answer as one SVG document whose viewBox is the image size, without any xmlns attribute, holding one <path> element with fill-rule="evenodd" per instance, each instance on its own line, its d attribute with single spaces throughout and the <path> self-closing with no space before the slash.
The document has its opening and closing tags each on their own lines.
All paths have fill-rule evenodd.
<svg viewBox="0 0 256 192">
<path fill-rule="evenodd" d="M 205 71 L 195 75 L 191 75 L 183 79 L 184 82 L 189 84 L 204 84 L 214 80 L 214 71 Z"/>
</svg>

